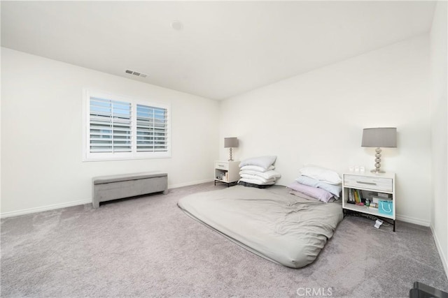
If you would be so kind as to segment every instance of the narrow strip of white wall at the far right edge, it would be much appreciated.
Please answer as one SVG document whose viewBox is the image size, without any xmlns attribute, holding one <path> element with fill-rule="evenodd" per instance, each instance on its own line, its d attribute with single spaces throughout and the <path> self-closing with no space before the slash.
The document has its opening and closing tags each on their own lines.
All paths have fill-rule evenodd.
<svg viewBox="0 0 448 298">
<path fill-rule="evenodd" d="M 445 271 L 448 273 L 447 11 L 447 2 L 437 2 L 430 32 L 430 57 L 433 87 L 431 140 L 434 197 L 431 228 Z"/>
</svg>

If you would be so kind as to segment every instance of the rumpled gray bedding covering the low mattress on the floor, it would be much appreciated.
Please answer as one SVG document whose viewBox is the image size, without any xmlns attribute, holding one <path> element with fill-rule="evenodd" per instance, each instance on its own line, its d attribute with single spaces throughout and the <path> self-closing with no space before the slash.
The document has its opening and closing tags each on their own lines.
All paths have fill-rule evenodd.
<svg viewBox="0 0 448 298">
<path fill-rule="evenodd" d="M 307 200 L 284 186 L 233 186 L 188 195 L 178 206 L 253 253 L 293 268 L 317 258 L 343 217 L 339 201 Z"/>
</svg>

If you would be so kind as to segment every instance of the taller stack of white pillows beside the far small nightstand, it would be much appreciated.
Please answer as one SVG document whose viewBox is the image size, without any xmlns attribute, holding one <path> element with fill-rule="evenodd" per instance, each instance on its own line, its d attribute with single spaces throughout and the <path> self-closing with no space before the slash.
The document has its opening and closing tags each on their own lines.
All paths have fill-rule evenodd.
<svg viewBox="0 0 448 298">
<path fill-rule="evenodd" d="M 239 164 L 239 182 L 267 186 L 275 184 L 275 180 L 281 177 L 279 172 L 274 171 L 276 156 L 260 156 L 248 158 Z M 250 186 L 250 185 L 246 185 Z"/>
</svg>

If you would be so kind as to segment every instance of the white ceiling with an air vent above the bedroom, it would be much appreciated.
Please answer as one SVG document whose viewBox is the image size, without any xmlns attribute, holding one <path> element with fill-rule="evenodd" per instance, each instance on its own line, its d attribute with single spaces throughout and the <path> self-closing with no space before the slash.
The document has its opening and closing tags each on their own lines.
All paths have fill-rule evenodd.
<svg viewBox="0 0 448 298">
<path fill-rule="evenodd" d="M 1 45 L 219 100 L 426 33 L 434 8 L 432 1 L 1 1 Z M 174 20 L 181 31 L 170 27 Z"/>
</svg>

